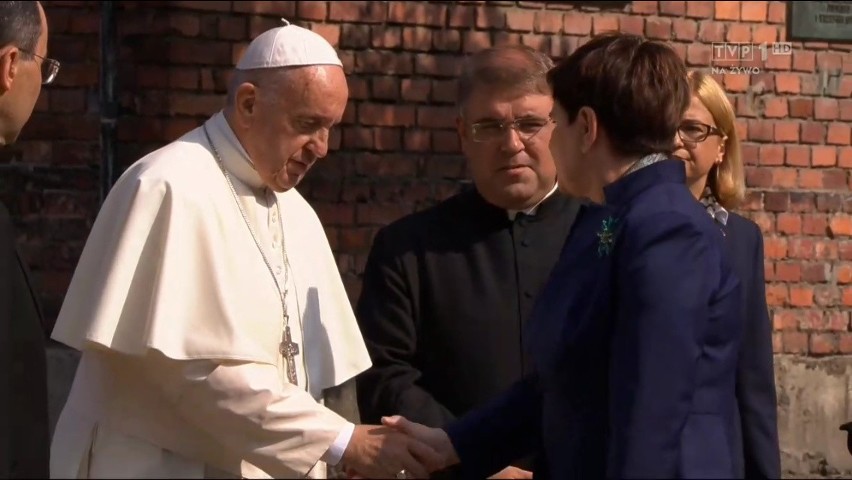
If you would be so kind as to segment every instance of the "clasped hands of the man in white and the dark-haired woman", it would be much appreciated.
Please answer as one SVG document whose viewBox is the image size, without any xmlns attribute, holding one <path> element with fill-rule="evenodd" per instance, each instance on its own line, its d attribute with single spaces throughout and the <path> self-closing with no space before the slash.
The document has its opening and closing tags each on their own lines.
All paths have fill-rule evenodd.
<svg viewBox="0 0 852 480">
<path fill-rule="evenodd" d="M 350 478 L 429 478 L 459 458 L 444 430 L 393 416 L 383 418 L 382 426 L 356 425 L 342 463 Z M 532 474 L 508 467 L 492 478 Z"/>
</svg>

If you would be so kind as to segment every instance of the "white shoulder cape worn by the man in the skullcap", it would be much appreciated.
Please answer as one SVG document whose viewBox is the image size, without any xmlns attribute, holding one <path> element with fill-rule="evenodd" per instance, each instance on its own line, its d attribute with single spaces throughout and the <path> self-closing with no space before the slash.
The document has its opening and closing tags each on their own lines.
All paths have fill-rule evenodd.
<svg viewBox="0 0 852 480">
<path fill-rule="evenodd" d="M 211 132 L 212 133 L 212 132 Z M 201 129 L 147 155 L 112 188 L 52 338 L 126 354 L 277 365 L 281 301 Z M 309 391 L 370 366 L 314 210 L 278 194 L 303 316 Z M 298 317 L 291 313 L 291 322 Z"/>
</svg>

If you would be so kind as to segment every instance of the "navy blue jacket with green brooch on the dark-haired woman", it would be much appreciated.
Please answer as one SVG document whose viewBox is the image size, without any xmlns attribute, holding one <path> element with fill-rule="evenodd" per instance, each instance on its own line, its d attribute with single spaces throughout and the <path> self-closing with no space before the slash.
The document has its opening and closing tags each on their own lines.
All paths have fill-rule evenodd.
<svg viewBox="0 0 852 480">
<path fill-rule="evenodd" d="M 467 475 L 540 449 L 536 478 L 737 476 L 740 282 L 685 182 L 665 160 L 582 207 L 528 324 L 536 374 L 446 428 Z"/>
</svg>

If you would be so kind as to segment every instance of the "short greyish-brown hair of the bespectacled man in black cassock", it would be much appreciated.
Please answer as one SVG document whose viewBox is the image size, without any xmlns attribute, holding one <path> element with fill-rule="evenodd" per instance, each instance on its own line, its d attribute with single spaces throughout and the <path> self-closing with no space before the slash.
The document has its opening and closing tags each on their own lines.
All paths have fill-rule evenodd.
<svg viewBox="0 0 852 480">
<path fill-rule="evenodd" d="M 550 95 L 547 72 L 551 68 L 550 57 L 526 45 L 480 50 L 465 60 L 458 80 L 458 104 L 464 106 L 474 89 L 483 87 Z"/>
</svg>

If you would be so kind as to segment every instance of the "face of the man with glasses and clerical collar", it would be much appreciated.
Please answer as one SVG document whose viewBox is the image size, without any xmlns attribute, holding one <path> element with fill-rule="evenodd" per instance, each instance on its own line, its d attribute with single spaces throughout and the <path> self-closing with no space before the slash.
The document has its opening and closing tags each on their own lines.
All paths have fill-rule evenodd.
<svg viewBox="0 0 852 480">
<path fill-rule="evenodd" d="M 459 119 L 473 181 L 490 203 L 521 210 L 554 186 L 549 95 L 477 89 Z M 514 124 L 512 122 L 515 122 Z"/>
</svg>

